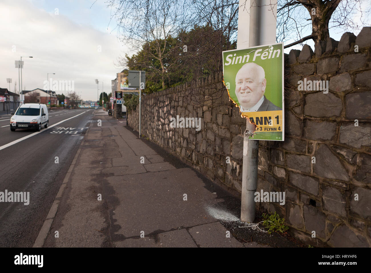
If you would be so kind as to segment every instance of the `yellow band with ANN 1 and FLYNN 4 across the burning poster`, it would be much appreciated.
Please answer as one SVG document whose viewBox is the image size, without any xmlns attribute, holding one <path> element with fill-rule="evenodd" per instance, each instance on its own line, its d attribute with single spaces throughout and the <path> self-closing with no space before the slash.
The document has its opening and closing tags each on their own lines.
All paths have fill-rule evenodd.
<svg viewBox="0 0 371 273">
<path fill-rule="evenodd" d="M 256 125 L 257 132 L 282 132 L 282 110 L 243 112 L 242 116 L 250 118 Z"/>
</svg>

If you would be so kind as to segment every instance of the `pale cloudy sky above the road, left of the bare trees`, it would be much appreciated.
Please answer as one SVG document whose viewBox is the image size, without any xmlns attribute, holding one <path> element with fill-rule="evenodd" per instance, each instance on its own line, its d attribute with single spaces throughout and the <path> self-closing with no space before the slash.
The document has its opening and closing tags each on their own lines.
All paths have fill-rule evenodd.
<svg viewBox="0 0 371 273">
<path fill-rule="evenodd" d="M 97 98 L 94 79 L 100 81 L 99 92 L 102 82 L 104 91 L 111 92 L 111 80 L 121 71 L 116 58 L 127 49 L 116 38 L 116 21 L 109 23 L 111 11 L 105 1 L 93 2 L 1 0 L 0 87 L 9 88 L 6 78 L 12 78 L 10 90 L 14 92 L 15 81 L 18 90 L 14 61 L 33 56 L 22 58 L 24 90 L 43 89 L 47 73 L 55 73 L 49 78 L 75 81 L 75 92 L 81 91 L 84 100 Z"/>
</svg>

